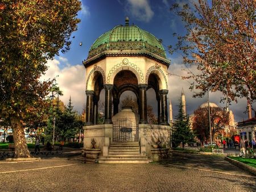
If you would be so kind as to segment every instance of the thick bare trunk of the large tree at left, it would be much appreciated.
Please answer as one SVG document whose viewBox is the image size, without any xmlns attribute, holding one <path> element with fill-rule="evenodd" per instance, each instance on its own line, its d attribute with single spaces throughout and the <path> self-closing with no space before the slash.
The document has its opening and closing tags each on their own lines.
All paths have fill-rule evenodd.
<svg viewBox="0 0 256 192">
<path fill-rule="evenodd" d="M 13 139 L 16 158 L 31 157 L 30 151 L 28 151 L 24 128 L 19 118 L 11 118 L 11 127 L 13 128 Z"/>
</svg>

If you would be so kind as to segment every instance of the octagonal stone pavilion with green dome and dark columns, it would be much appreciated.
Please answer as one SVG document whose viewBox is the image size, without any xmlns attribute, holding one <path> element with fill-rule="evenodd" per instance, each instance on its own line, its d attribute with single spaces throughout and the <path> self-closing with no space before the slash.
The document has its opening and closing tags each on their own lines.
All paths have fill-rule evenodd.
<svg viewBox="0 0 256 192">
<path fill-rule="evenodd" d="M 166 77 L 170 60 L 159 39 L 134 24 L 129 25 L 126 18 L 124 26 L 115 26 L 94 41 L 83 64 L 86 68 L 84 148 L 92 148 L 94 139 L 95 147 L 101 149 L 100 156 L 107 157 L 114 144 L 132 141 L 130 144 L 138 144 L 139 155 L 151 156 L 152 145 L 158 140 L 162 145 L 170 146 Z M 154 89 L 158 102 L 156 125 L 147 124 L 147 90 L 150 88 Z M 104 124 L 98 124 L 98 101 L 102 89 L 105 90 L 105 118 Z M 136 95 L 139 106 L 139 119 L 134 129 L 130 129 L 129 124 L 112 121 L 113 116 L 121 112 L 118 110 L 119 100 L 127 90 Z M 136 131 L 130 134 L 135 135 L 132 140 L 115 137 L 118 134 L 130 137 L 131 130 Z"/>
</svg>

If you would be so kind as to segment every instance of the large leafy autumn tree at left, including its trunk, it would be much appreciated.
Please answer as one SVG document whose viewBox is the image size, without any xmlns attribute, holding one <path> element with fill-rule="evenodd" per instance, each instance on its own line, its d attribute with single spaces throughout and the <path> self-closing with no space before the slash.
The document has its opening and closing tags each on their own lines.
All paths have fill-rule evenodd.
<svg viewBox="0 0 256 192">
<path fill-rule="evenodd" d="M 23 122 L 46 103 L 51 81 L 39 81 L 48 59 L 69 50 L 79 0 L 0 2 L 0 114 L 14 134 L 15 157 L 30 157 Z"/>
</svg>

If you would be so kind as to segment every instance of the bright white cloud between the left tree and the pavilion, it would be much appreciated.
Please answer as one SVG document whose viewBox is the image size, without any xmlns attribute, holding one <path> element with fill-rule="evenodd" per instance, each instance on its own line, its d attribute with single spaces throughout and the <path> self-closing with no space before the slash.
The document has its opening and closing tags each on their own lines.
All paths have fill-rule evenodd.
<svg viewBox="0 0 256 192">
<path fill-rule="evenodd" d="M 64 68 L 60 68 L 59 60 L 65 62 Z M 61 101 L 67 105 L 71 96 L 74 109 L 81 112 L 85 104 L 85 68 L 83 65 L 70 66 L 65 57 L 59 57 L 59 60 L 48 60 L 48 70 L 41 79 L 48 80 L 59 76 L 56 77 L 56 81 L 60 90 L 63 91 Z"/>
</svg>

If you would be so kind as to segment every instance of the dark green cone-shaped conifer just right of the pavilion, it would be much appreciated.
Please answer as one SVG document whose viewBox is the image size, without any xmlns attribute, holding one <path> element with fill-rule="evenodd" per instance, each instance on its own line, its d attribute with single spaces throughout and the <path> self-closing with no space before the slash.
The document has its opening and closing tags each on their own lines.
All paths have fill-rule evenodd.
<svg viewBox="0 0 256 192">
<path fill-rule="evenodd" d="M 179 102 L 179 112 L 175 116 L 175 121 L 172 123 L 174 131 L 172 132 L 172 141 L 177 146 L 182 143 L 182 148 L 186 143 L 192 143 L 194 140 L 193 132 L 190 128 L 189 118 L 182 110 L 182 102 Z"/>
</svg>

